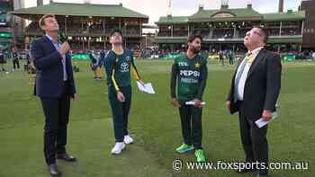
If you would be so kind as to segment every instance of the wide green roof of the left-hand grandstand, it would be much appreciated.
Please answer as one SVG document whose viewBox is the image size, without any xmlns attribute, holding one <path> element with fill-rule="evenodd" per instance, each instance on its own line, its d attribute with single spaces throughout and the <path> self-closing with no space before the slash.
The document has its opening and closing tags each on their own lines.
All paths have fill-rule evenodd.
<svg viewBox="0 0 315 177">
<path fill-rule="evenodd" d="M 97 16 L 97 17 L 133 17 L 145 18 L 145 14 L 137 13 L 122 6 L 122 4 L 67 4 L 50 3 L 42 6 L 19 9 L 14 12 L 16 15 L 23 14 L 46 14 L 68 16 Z"/>
</svg>

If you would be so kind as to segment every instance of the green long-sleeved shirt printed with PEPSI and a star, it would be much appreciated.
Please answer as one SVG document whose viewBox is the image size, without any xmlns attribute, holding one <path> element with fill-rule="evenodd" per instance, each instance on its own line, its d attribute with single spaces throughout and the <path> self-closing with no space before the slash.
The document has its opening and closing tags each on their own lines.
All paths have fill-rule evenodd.
<svg viewBox="0 0 315 177">
<path fill-rule="evenodd" d="M 179 101 L 202 100 L 208 76 L 207 60 L 197 55 L 188 58 L 187 55 L 175 58 L 171 74 L 171 97 Z M 177 97 L 175 93 L 177 81 Z"/>
</svg>

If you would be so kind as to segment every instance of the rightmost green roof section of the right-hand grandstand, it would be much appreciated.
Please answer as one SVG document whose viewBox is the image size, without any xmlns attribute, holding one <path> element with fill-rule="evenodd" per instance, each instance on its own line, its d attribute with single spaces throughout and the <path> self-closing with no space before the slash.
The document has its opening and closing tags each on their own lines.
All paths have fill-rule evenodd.
<svg viewBox="0 0 315 177">
<path fill-rule="evenodd" d="M 304 11 L 264 14 L 264 21 L 269 22 L 303 20 L 304 18 L 305 18 Z"/>
</svg>

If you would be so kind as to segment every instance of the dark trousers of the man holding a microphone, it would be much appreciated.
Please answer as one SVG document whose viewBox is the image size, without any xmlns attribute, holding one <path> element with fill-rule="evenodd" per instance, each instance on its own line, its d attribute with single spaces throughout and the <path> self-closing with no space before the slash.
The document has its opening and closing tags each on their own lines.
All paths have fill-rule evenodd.
<svg viewBox="0 0 315 177">
<path fill-rule="evenodd" d="M 44 155 L 47 164 L 56 164 L 56 154 L 66 153 L 67 123 L 69 121 L 69 85 L 59 98 L 40 98 L 45 114 Z"/>
</svg>

